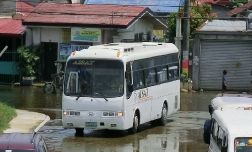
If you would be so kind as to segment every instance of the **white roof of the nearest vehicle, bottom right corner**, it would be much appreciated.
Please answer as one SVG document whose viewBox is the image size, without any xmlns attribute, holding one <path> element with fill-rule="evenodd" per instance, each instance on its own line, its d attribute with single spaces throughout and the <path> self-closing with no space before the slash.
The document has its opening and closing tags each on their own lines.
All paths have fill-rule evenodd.
<svg viewBox="0 0 252 152">
<path fill-rule="evenodd" d="M 213 118 L 228 134 L 239 137 L 252 137 L 251 117 L 251 110 L 215 110 L 213 113 Z"/>
</svg>

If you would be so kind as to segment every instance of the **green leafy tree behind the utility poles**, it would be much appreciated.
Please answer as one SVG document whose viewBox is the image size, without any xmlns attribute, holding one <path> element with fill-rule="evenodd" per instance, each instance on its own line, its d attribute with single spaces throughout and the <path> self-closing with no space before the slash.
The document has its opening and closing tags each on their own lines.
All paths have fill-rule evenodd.
<svg viewBox="0 0 252 152">
<path fill-rule="evenodd" d="M 178 13 L 171 13 L 167 17 L 168 29 L 165 38 L 169 42 L 174 43 L 176 37 L 176 18 L 184 17 L 184 8 L 181 8 Z M 190 39 L 194 38 L 194 33 L 206 20 L 216 18 L 217 14 L 212 13 L 212 6 L 210 4 L 202 4 L 200 6 L 191 3 L 190 6 Z M 182 20 L 183 25 L 183 20 Z M 182 31 L 183 32 L 183 31 Z"/>
</svg>

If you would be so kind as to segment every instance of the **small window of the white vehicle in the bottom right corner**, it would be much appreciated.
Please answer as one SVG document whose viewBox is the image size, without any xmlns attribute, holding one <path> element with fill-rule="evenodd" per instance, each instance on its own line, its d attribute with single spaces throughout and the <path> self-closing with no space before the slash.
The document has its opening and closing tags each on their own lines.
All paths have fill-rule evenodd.
<svg viewBox="0 0 252 152">
<path fill-rule="evenodd" d="M 235 152 L 252 151 L 252 137 L 239 137 L 235 139 Z"/>
</svg>

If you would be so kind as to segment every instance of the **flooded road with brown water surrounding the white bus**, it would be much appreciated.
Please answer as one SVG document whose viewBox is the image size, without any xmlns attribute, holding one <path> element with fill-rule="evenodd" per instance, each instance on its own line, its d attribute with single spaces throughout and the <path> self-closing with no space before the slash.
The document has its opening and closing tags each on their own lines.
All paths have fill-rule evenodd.
<svg viewBox="0 0 252 152">
<path fill-rule="evenodd" d="M 42 88 L 0 86 L 0 100 L 17 109 L 49 115 L 41 128 L 50 152 L 202 152 L 203 124 L 209 118 L 207 106 L 218 92 L 181 93 L 181 110 L 169 117 L 162 127 L 146 123 L 135 135 L 126 131 L 84 130 L 76 136 L 74 129 L 61 124 L 61 94 L 44 94 Z"/>
</svg>

